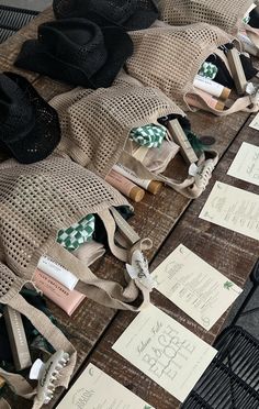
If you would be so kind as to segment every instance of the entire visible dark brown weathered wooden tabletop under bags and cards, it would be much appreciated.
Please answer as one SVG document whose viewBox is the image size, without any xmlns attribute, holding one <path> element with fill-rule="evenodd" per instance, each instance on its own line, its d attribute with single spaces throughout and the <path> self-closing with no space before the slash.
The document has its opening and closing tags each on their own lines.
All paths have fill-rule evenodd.
<svg viewBox="0 0 259 409">
<path fill-rule="evenodd" d="M 37 25 L 50 19 L 53 19 L 53 12 L 46 10 L 0 46 L 1 71 L 13 70 L 26 76 L 46 100 L 68 90 L 69 87 L 47 77 L 16 69 L 13 67 L 13 62 L 22 43 L 26 38 L 36 37 Z M 245 112 L 226 118 L 216 118 L 205 112 L 189 114 L 194 132 L 199 135 L 215 136 L 215 148 L 221 159 L 210 186 L 196 200 L 191 201 L 165 187 L 157 196 L 146 194 L 145 199 L 135 204 L 135 215 L 130 222 L 140 236 L 148 236 L 154 241 L 154 247 L 147 254 L 151 270 L 182 243 L 238 286 L 244 287 L 258 257 L 258 242 L 199 219 L 199 213 L 215 180 L 259 194 L 257 186 L 226 175 L 244 141 L 258 145 L 258 131 L 248 128 L 252 118 L 254 115 Z M 180 177 L 184 176 L 187 169 L 183 162 L 179 159 L 174 161 L 169 172 Z M 123 263 L 110 254 L 95 265 L 99 276 L 116 280 L 120 280 L 122 276 L 122 268 Z M 211 331 L 205 331 L 158 291 L 154 290 L 151 300 L 157 307 L 211 344 L 219 333 L 227 314 L 224 314 Z M 78 351 L 74 380 L 91 362 L 155 408 L 179 408 L 180 404 L 176 398 L 112 351 L 113 343 L 134 319 L 134 313 L 104 308 L 87 299 L 72 314 L 72 318 L 69 318 L 55 305 L 50 302 L 48 305 L 53 314 L 66 328 L 68 338 Z M 47 408 L 54 408 L 64 394 L 64 391 L 57 394 Z M 7 394 L 7 399 L 13 409 L 32 407 L 30 401 L 14 397 L 11 393 Z"/>
</svg>

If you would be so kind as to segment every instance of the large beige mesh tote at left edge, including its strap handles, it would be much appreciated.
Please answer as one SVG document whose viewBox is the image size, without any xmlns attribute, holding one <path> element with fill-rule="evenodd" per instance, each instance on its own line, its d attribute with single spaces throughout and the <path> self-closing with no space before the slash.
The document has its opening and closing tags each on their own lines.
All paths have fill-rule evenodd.
<svg viewBox="0 0 259 409">
<path fill-rule="evenodd" d="M 120 284 L 95 276 L 56 242 L 60 229 L 97 213 L 111 252 L 132 264 L 132 258 L 151 243 L 140 240 L 115 210 L 117 206 L 130 204 L 104 180 L 69 158 L 54 155 L 32 165 L 7 161 L 0 164 L 0 259 L 19 276 L 32 279 L 40 257 L 45 255 L 77 276 L 76 289 L 88 298 L 112 308 L 138 310 L 149 302 L 151 290 L 145 259 L 143 275 L 130 278 L 122 274 Z M 115 243 L 116 229 L 125 237 L 125 247 Z M 138 306 L 132 306 L 139 295 Z"/>
</svg>

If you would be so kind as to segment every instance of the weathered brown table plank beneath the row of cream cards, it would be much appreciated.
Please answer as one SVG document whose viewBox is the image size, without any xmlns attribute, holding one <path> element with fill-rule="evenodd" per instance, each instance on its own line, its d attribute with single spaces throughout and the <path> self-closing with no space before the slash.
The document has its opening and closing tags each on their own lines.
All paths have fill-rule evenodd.
<svg viewBox="0 0 259 409">
<path fill-rule="evenodd" d="M 202 197 L 191 203 L 188 211 L 172 229 L 171 234 L 168 236 L 162 248 L 158 252 L 151 263 L 151 270 L 154 270 L 156 266 L 158 266 L 180 243 L 183 243 L 213 267 L 226 275 L 226 277 L 234 280 L 238 286 L 244 287 L 252 266 L 258 258 L 258 241 L 199 219 L 199 213 L 204 206 L 215 180 L 221 180 L 238 188 L 259 194 L 258 186 L 250 185 L 226 175 L 240 144 L 244 141 L 258 145 L 258 131 L 247 126 L 244 128 L 221 161 L 214 174 L 210 189 Z M 226 312 L 221 317 L 212 330 L 207 332 L 157 290 L 154 291 L 151 298 L 153 302 L 157 307 L 211 344 L 219 333 L 227 316 Z M 112 351 L 112 345 L 133 319 L 133 313 L 119 312 L 99 345 L 88 357 L 87 363 L 91 362 L 95 364 L 117 382 L 158 409 L 179 408 L 180 404 L 177 399 L 167 394 L 161 387 Z"/>
</svg>

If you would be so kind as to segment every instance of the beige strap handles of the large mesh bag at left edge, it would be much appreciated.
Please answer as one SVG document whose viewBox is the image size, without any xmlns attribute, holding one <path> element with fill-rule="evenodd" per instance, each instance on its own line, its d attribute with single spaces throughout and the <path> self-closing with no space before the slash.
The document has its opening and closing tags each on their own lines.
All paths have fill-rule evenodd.
<svg viewBox="0 0 259 409">
<path fill-rule="evenodd" d="M 149 239 L 140 240 L 115 209 L 103 210 L 98 214 L 104 223 L 110 250 L 117 258 L 131 264 L 136 251 L 142 253 L 143 250 L 151 247 L 151 241 Z M 116 226 L 126 237 L 128 248 L 119 247 L 115 244 Z M 139 311 L 149 303 L 151 288 L 148 288 L 145 280 L 139 279 L 139 277 L 131 278 L 125 274 L 125 287 L 116 281 L 99 278 L 85 263 L 58 243 L 55 243 L 48 250 L 47 256 L 52 259 L 61 261 L 63 266 L 79 278 L 76 289 L 101 305 L 115 309 Z M 146 272 L 146 274 L 148 275 L 149 273 Z M 132 306 L 131 302 L 138 298 L 139 292 L 143 298 L 140 305 L 138 307 Z"/>
</svg>

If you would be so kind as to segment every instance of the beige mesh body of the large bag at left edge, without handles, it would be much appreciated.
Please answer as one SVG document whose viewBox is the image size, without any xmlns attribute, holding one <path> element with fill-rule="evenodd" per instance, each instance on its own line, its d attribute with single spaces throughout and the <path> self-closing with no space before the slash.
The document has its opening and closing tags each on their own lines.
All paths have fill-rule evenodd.
<svg viewBox="0 0 259 409">
<path fill-rule="evenodd" d="M 30 279 L 60 229 L 122 204 L 128 203 L 115 189 L 68 158 L 52 156 L 32 165 L 4 162 L 0 164 L 0 259 Z"/>
</svg>

